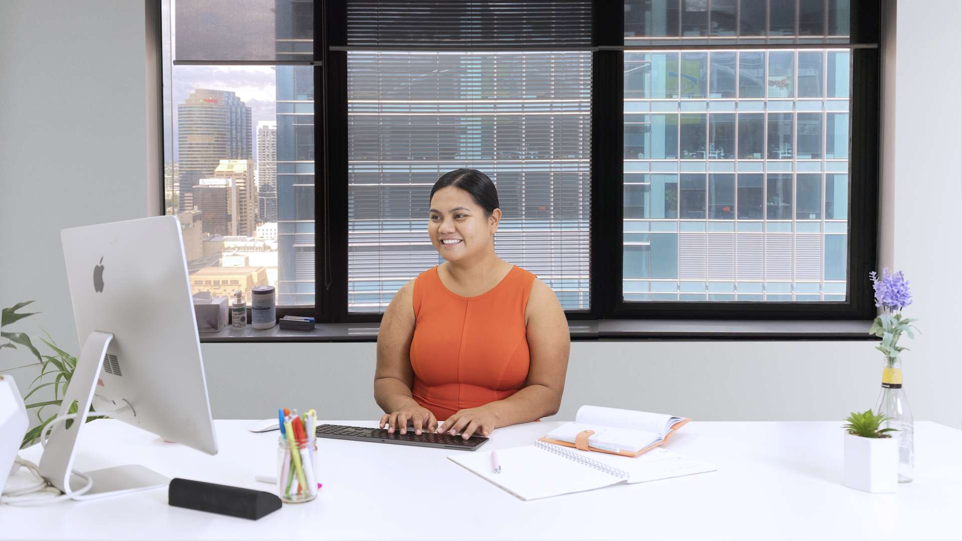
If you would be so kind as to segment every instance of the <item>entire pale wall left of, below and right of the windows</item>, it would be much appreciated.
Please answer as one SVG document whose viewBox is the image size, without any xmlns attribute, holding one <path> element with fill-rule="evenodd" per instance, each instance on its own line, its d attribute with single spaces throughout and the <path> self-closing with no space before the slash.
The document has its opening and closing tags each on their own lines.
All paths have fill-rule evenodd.
<svg viewBox="0 0 962 541">
<path fill-rule="evenodd" d="M 882 228 L 894 236 L 882 239 L 890 264 L 913 282 L 909 313 L 923 318 L 925 334 L 905 355 L 916 419 L 956 427 L 959 15 L 952 0 L 899 9 L 898 57 L 909 61 L 896 88 L 895 222 Z M 142 20 L 139 2 L 0 2 L 0 305 L 36 298 L 44 314 L 24 329 L 42 323 L 73 351 L 60 229 L 145 215 Z M 327 418 L 378 413 L 372 344 L 203 352 L 216 417 L 266 418 L 280 403 Z M 29 358 L 0 352 L 0 370 L 20 361 Z M 839 420 L 873 405 L 881 363 L 867 342 L 578 342 L 559 417 L 602 403 L 702 420 Z M 21 387 L 30 370 L 14 371 Z"/>
</svg>

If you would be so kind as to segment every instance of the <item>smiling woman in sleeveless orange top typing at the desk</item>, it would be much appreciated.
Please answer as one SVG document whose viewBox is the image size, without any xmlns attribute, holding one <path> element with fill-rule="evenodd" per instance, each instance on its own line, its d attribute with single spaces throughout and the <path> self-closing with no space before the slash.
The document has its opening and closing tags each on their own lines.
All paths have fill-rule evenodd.
<svg viewBox="0 0 962 541">
<path fill-rule="evenodd" d="M 405 284 L 384 313 L 374 373 L 381 427 L 467 439 L 557 413 L 568 322 L 544 282 L 495 255 L 494 183 L 455 169 L 430 201 L 428 235 L 445 262 Z"/>
</svg>

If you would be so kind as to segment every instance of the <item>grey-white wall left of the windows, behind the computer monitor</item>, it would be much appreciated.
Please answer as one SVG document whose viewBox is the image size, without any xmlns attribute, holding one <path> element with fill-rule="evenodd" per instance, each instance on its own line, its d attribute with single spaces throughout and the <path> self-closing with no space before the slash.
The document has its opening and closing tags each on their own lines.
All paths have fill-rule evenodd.
<svg viewBox="0 0 962 541">
<path fill-rule="evenodd" d="M 142 1 L 0 2 L 0 306 L 36 300 L 13 329 L 68 351 L 61 229 L 147 212 L 144 53 Z M 0 370 L 32 359 L 3 349 Z"/>
</svg>

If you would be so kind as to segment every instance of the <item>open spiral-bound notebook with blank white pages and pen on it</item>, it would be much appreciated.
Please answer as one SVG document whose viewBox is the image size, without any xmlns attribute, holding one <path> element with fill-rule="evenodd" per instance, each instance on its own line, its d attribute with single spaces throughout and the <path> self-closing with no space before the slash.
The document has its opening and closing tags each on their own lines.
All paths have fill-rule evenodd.
<svg viewBox="0 0 962 541">
<path fill-rule="evenodd" d="M 715 467 L 707 462 L 661 448 L 638 457 L 627 457 L 578 451 L 543 441 L 498 450 L 500 474 L 492 471 L 490 451 L 465 452 L 448 458 L 525 501 L 625 482 L 645 482 L 715 471 Z"/>
</svg>

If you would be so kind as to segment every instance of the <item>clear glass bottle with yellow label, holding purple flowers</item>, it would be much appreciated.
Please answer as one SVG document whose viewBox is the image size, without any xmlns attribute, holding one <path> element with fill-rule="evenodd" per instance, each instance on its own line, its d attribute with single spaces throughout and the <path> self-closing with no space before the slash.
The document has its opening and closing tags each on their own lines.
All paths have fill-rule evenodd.
<svg viewBox="0 0 962 541">
<path fill-rule="evenodd" d="M 877 415 L 891 418 L 880 427 L 897 430 L 888 433 L 899 440 L 899 482 L 910 482 L 915 477 L 915 425 L 908 399 L 905 398 L 905 390 L 902 388 L 900 357 L 885 357 L 882 388 L 875 401 L 874 410 Z"/>
</svg>

